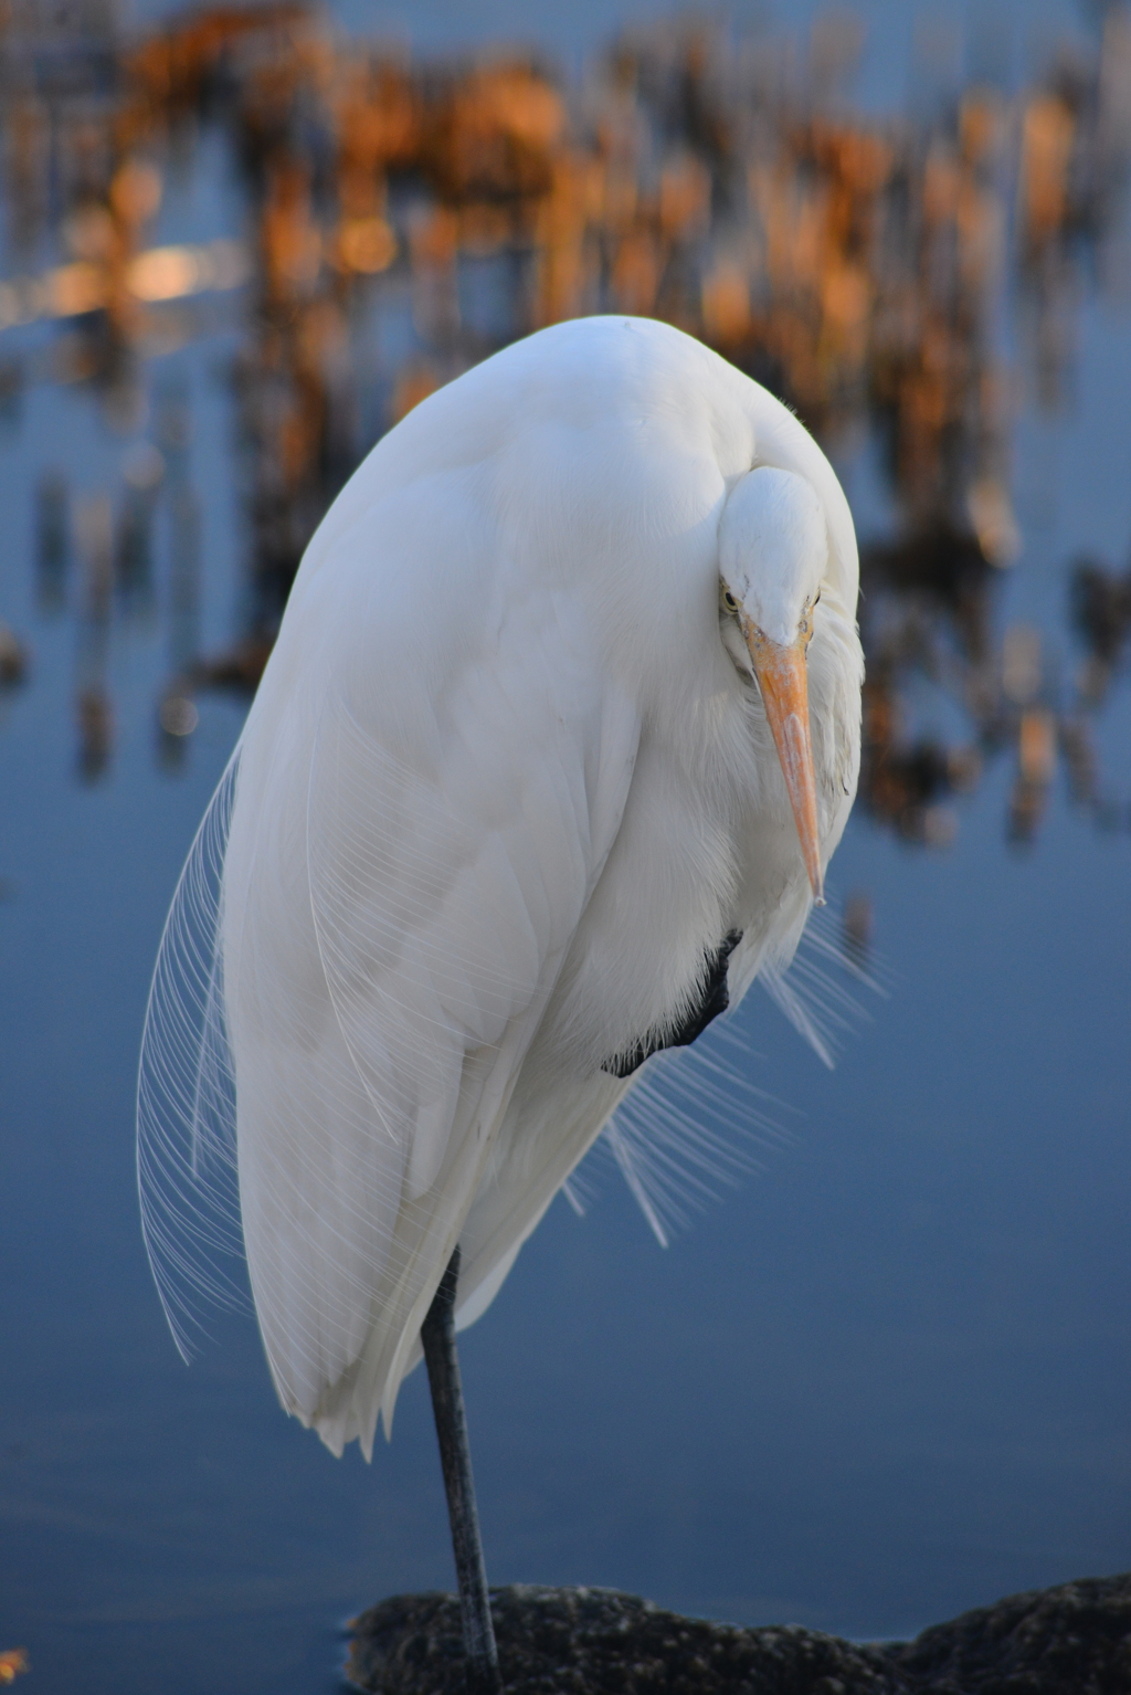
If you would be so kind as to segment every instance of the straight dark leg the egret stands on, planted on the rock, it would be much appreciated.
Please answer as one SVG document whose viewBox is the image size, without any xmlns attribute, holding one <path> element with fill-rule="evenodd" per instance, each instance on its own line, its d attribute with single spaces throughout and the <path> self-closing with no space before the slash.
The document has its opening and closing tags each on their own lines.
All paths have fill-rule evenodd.
<svg viewBox="0 0 1131 1695">
<path fill-rule="evenodd" d="M 459 1607 L 464 1619 L 467 1654 L 467 1695 L 501 1695 L 499 1654 L 494 1646 L 488 1571 L 483 1563 L 476 1485 L 471 1476 L 464 1390 L 459 1381 L 455 1353 L 455 1283 L 459 1281 L 459 1248 L 420 1327 L 420 1341 L 428 1366 L 435 1434 L 440 1441 L 440 1466 L 447 1492 L 447 1515 L 452 1524 Z"/>
</svg>

